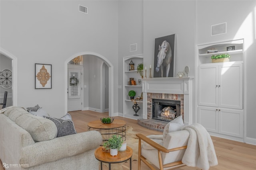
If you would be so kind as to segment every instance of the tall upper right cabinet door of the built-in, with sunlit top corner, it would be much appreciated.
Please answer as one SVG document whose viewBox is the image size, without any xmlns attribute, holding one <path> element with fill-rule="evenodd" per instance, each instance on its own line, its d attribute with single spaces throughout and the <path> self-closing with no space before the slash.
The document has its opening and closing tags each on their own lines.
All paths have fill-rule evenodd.
<svg viewBox="0 0 256 170">
<path fill-rule="evenodd" d="M 223 64 L 219 66 L 219 107 L 243 109 L 243 66 Z"/>
</svg>

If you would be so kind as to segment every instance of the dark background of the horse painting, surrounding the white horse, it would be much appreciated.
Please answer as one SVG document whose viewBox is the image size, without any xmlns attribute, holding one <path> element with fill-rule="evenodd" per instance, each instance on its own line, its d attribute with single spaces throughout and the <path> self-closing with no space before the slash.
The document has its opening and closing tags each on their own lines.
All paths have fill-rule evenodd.
<svg viewBox="0 0 256 170">
<path fill-rule="evenodd" d="M 154 68 L 153 68 L 153 77 L 161 77 L 161 70 L 156 72 L 157 67 L 157 55 L 159 52 L 159 45 L 162 45 L 163 41 L 167 41 L 170 44 L 172 49 L 172 61 L 170 63 L 170 70 L 168 72 L 168 77 L 175 76 L 175 58 L 176 58 L 176 34 L 168 35 L 165 37 L 160 37 L 155 39 L 155 49 L 154 49 Z M 166 77 L 166 66 L 163 66 L 163 77 Z"/>
</svg>

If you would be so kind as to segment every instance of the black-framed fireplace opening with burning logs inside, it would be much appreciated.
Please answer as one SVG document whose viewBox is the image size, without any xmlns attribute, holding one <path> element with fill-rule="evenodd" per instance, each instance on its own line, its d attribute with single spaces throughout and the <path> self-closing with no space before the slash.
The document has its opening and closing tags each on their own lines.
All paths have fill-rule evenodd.
<svg viewBox="0 0 256 170">
<path fill-rule="evenodd" d="M 152 119 L 172 121 L 180 116 L 180 101 L 152 99 Z"/>
</svg>

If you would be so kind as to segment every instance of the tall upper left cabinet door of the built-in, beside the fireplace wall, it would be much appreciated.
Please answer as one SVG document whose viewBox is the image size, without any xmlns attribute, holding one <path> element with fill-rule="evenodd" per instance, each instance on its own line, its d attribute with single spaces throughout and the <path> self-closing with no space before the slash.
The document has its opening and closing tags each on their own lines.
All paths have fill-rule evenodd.
<svg viewBox="0 0 256 170">
<path fill-rule="evenodd" d="M 198 67 L 198 105 L 218 106 L 218 66 Z"/>
</svg>

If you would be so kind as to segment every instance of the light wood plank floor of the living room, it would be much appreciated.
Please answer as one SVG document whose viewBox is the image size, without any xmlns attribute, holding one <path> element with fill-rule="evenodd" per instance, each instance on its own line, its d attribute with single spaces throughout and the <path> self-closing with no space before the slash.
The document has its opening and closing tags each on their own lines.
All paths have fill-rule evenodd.
<svg viewBox="0 0 256 170">
<path fill-rule="evenodd" d="M 98 120 L 100 117 L 108 116 L 106 113 L 98 113 L 94 111 L 72 111 L 72 116 L 77 133 L 87 131 L 87 124 L 90 121 Z M 133 131 L 144 135 L 160 135 L 162 132 L 148 130 L 138 125 L 137 120 L 124 117 L 115 117 L 126 121 L 126 125 L 130 125 Z M 210 167 L 210 170 L 256 170 L 256 146 L 246 143 L 240 143 L 218 137 L 212 137 L 214 148 L 218 158 L 218 165 Z M 2 165 L 2 162 L 1 162 Z M 138 170 L 138 161 L 132 162 L 132 170 Z M 104 170 L 108 168 L 103 167 Z M 0 170 L 4 170 L 0 166 Z M 129 162 L 123 164 L 123 170 L 129 170 Z M 150 170 L 143 162 L 141 170 Z M 198 168 L 182 167 L 177 170 L 198 170 Z"/>
</svg>

